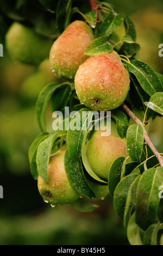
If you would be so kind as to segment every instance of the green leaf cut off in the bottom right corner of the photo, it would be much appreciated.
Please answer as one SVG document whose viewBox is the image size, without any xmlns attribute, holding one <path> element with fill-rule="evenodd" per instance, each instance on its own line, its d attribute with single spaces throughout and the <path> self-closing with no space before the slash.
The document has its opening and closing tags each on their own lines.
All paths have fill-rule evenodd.
<svg viewBox="0 0 163 256">
<path fill-rule="evenodd" d="M 163 224 L 158 222 L 157 224 L 151 224 L 145 231 L 143 237 L 144 245 L 159 245 L 158 232 L 163 229 Z"/>
</svg>

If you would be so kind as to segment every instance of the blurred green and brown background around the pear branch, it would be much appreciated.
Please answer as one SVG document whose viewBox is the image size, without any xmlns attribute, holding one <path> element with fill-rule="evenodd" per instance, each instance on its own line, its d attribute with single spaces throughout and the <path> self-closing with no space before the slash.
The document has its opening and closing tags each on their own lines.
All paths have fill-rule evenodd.
<svg viewBox="0 0 163 256">
<path fill-rule="evenodd" d="M 0 199 L 0 245 L 129 245 L 126 229 L 109 196 L 99 202 L 99 209 L 81 213 L 68 205 L 51 208 L 37 190 L 28 162 L 29 145 L 40 133 L 35 102 L 40 90 L 57 78 L 50 70 L 48 58 L 39 66 L 32 66 L 15 62 L 9 56 L 5 33 L 13 20 L 22 19 L 11 11 L 13 2 L 0 0 L 0 43 L 4 46 L 4 57 L 0 57 L 0 185 L 4 190 L 4 198 Z M 83 11 L 89 11 L 88 1 L 74 2 Z M 141 60 L 163 74 L 163 57 L 158 56 L 158 46 L 163 43 L 162 0 L 108 2 L 135 23 Z M 28 15 L 30 12 L 26 18 Z M 52 28 L 55 33 L 55 27 Z M 160 117 L 150 124 L 149 136 L 163 152 Z"/>
</svg>

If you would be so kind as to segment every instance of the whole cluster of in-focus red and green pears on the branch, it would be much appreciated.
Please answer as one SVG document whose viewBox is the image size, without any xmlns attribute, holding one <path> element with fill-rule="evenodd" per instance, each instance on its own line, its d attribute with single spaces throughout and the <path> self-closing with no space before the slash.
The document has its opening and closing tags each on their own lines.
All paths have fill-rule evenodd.
<svg viewBox="0 0 163 256">
<path fill-rule="evenodd" d="M 84 54 L 94 39 L 92 28 L 76 20 L 54 41 L 49 60 L 57 77 L 74 81 L 81 104 L 96 111 L 110 111 L 126 99 L 129 75 L 116 51 L 91 57 Z M 101 134 L 101 130 L 92 131 L 86 151 L 93 172 L 107 181 L 112 162 L 128 154 L 126 139 L 118 135 L 114 121 L 111 121 L 110 135 Z M 39 192 L 51 205 L 71 204 L 80 197 L 66 176 L 64 155 L 65 149 L 62 149 L 51 156 L 48 185 L 40 177 L 38 179 Z M 97 199 L 109 193 L 107 186 L 88 182 Z"/>
</svg>

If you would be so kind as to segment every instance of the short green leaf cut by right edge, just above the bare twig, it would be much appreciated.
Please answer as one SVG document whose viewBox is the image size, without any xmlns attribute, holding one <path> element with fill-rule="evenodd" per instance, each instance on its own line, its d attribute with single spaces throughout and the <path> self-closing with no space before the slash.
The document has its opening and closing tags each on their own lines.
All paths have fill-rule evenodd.
<svg viewBox="0 0 163 256">
<path fill-rule="evenodd" d="M 145 102 L 145 105 L 153 111 L 163 115 L 163 93 L 153 94 L 149 99 L 149 102 Z"/>
</svg>

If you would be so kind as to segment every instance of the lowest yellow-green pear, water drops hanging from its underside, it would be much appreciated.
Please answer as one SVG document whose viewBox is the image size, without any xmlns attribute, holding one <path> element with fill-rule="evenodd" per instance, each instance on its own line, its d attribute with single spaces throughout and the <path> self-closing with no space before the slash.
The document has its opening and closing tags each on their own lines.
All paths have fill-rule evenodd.
<svg viewBox="0 0 163 256">
<path fill-rule="evenodd" d="M 46 184 L 40 176 L 37 180 L 37 187 L 43 200 L 52 206 L 71 204 L 80 196 L 68 181 L 64 155 L 65 149 L 51 156 L 48 166 L 49 184 Z"/>
</svg>

